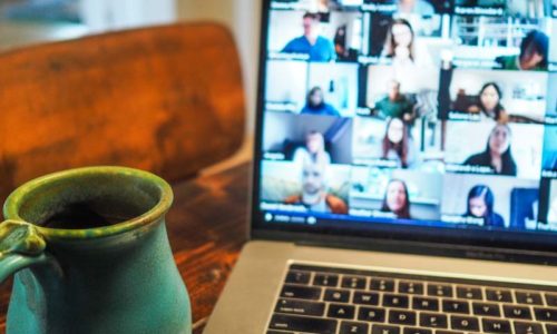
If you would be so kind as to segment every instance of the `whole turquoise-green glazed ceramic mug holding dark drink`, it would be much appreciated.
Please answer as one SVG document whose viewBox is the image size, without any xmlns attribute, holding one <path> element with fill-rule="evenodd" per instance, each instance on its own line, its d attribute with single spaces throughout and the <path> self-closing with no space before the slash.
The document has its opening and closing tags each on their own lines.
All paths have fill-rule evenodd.
<svg viewBox="0 0 557 334">
<path fill-rule="evenodd" d="M 88 167 L 13 191 L 0 224 L 0 282 L 14 274 L 8 333 L 190 333 L 162 178 Z"/>
</svg>

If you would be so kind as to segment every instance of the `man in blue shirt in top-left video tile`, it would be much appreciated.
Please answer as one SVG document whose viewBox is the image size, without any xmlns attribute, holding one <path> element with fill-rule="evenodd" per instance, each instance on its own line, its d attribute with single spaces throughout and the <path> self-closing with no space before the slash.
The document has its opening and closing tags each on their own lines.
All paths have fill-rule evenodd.
<svg viewBox="0 0 557 334">
<path fill-rule="evenodd" d="M 291 40 L 282 52 L 305 53 L 310 56 L 310 61 L 332 61 L 336 58 L 333 42 L 320 32 L 320 16 L 306 12 L 303 16 L 304 35 Z"/>
</svg>

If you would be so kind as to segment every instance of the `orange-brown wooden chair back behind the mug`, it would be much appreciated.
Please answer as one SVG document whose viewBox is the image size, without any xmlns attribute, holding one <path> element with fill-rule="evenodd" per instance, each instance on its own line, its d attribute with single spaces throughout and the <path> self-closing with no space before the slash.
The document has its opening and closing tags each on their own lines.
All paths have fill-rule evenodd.
<svg viewBox="0 0 557 334">
<path fill-rule="evenodd" d="M 238 149 L 244 91 L 228 30 L 110 32 L 0 53 L 0 202 L 37 176 L 124 165 L 176 181 Z"/>
</svg>

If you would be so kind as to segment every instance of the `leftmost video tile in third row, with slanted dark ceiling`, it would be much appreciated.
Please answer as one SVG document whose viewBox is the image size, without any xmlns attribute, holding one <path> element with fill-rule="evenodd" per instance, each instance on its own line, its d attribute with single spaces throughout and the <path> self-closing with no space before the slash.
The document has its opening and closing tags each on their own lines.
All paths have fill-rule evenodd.
<svg viewBox="0 0 557 334">
<path fill-rule="evenodd" d="M 352 119 L 267 112 L 264 157 L 275 160 L 352 164 Z"/>
</svg>

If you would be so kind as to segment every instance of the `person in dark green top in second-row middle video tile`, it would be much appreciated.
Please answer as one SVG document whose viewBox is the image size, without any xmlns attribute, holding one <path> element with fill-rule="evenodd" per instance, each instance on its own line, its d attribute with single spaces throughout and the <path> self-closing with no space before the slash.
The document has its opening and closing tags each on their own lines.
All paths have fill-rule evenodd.
<svg viewBox="0 0 557 334">
<path fill-rule="evenodd" d="M 400 118 L 407 122 L 413 119 L 413 105 L 402 94 L 400 94 L 400 82 L 390 80 L 388 82 L 389 94 L 375 104 L 375 110 L 382 118 Z"/>
</svg>

